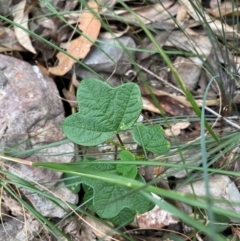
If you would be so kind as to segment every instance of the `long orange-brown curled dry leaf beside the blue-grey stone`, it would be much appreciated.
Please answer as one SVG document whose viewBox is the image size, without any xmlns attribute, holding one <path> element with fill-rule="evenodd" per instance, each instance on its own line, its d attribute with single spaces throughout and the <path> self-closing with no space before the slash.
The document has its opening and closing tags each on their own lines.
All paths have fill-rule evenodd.
<svg viewBox="0 0 240 241">
<path fill-rule="evenodd" d="M 82 36 L 72 40 L 68 44 L 67 52 L 75 59 L 83 59 L 87 56 L 91 46 L 99 35 L 101 22 L 97 18 L 98 5 L 95 2 L 88 3 L 89 10 L 79 16 L 78 28 L 82 31 Z M 76 62 L 65 53 L 57 54 L 59 63 L 56 67 L 49 68 L 49 72 L 54 75 L 66 74 Z"/>
</svg>

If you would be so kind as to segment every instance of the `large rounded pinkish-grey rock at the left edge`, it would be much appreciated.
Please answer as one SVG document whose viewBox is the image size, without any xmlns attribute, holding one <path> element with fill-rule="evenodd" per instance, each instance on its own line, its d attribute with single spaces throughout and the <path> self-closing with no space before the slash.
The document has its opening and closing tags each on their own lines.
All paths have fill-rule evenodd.
<svg viewBox="0 0 240 241">
<path fill-rule="evenodd" d="M 36 140 L 50 143 L 64 138 L 61 127 L 56 126 L 51 134 L 51 126 L 60 123 L 64 118 L 64 110 L 52 79 L 44 77 L 38 67 L 31 66 L 21 60 L 0 55 L 0 78 L 4 84 L 0 88 L 0 151 L 4 148 L 26 150 L 36 145 Z M 7 80 L 5 79 L 7 78 Z M 3 126 L 4 130 L 3 130 Z M 47 130 L 47 131 L 46 131 Z M 38 135 L 40 134 L 41 135 Z M 51 140 L 43 136 L 51 136 Z M 34 143 L 33 143 L 34 142 Z"/>
</svg>

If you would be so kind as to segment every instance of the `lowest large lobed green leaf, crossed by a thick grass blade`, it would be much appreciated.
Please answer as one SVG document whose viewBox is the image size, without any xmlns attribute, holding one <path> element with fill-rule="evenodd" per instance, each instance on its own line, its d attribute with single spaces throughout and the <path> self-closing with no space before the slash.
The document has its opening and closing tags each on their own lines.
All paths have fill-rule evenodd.
<svg viewBox="0 0 240 241">
<path fill-rule="evenodd" d="M 78 167 L 81 169 L 105 171 L 106 175 L 108 173 L 117 174 L 116 165 L 108 164 L 107 162 L 106 164 L 80 162 Z M 139 174 L 136 179 L 144 182 L 144 179 Z M 85 191 L 84 201 L 92 199 L 86 205 L 104 219 L 113 219 L 121 213 L 127 216 L 129 220 L 132 220 L 137 213 L 147 212 L 154 206 L 140 192 L 137 190 L 133 191 L 126 186 L 88 177 L 82 177 L 82 182 Z M 133 217 L 131 218 L 128 214 L 125 214 L 123 210 L 131 213 Z"/>
</svg>

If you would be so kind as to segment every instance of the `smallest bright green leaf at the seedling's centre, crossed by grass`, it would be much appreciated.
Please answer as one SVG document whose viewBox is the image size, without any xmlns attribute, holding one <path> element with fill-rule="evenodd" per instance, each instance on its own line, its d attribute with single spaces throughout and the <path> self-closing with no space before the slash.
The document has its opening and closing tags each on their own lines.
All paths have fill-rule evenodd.
<svg viewBox="0 0 240 241">
<path fill-rule="evenodd" d="M 121 151 L 120 159 L 124 161 L 135 161 L 135 156 L 129 151 Z M 134 179 L 137 176 L 137 165 L 126 165 L 126 164 L 117 164 L 117 172 L 121 173 L 124 177 L 129 177 Z"/>
</svg>

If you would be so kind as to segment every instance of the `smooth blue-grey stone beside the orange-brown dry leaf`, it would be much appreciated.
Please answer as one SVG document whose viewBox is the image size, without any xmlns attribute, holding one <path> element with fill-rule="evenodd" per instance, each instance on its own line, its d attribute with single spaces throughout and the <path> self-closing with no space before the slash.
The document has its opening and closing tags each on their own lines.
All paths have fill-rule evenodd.
<svg viewBox="0 0 240 241">
<path fill-rule="evenodd" d="M 84 64 L 98 72 L 114 73 L 122 75 L 131 68 L 131 58 L 134 58 L 134 51 L 125 48 L 135 48 L 136 44 L 132 38 L 123 36 L 118 39 L 99 39 L 97 47 L 94 46 Z M 80 73 L 84 67 L 75 65 L 76 73 Z"/>
</svg>

